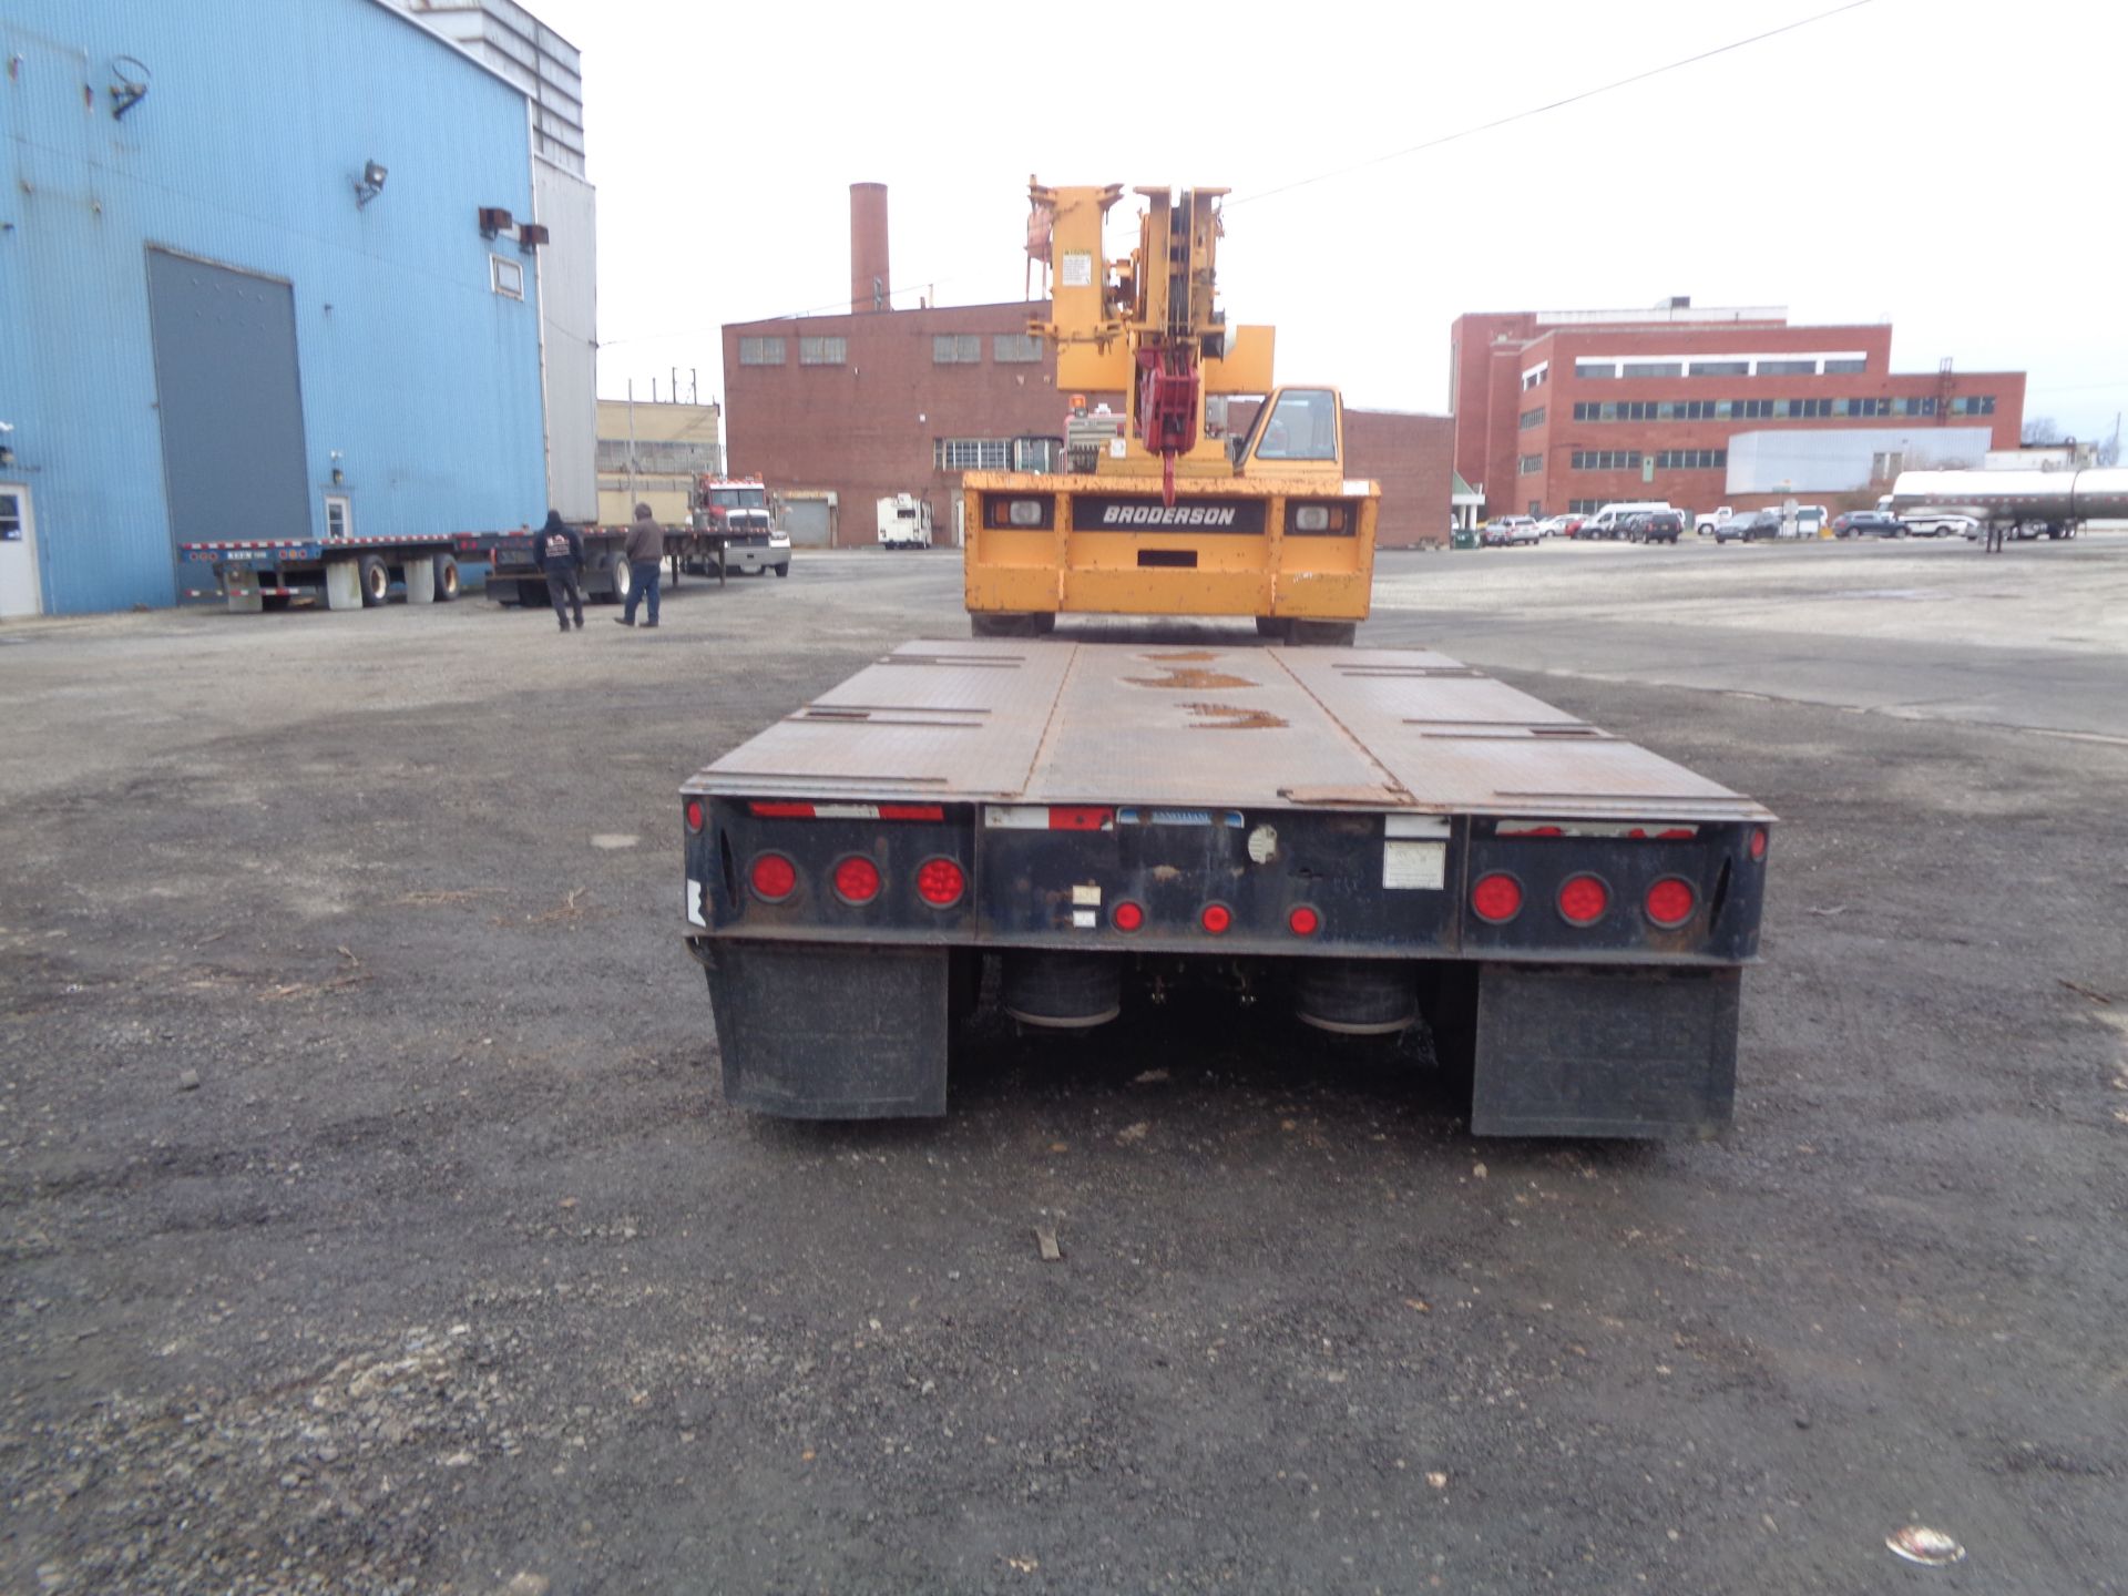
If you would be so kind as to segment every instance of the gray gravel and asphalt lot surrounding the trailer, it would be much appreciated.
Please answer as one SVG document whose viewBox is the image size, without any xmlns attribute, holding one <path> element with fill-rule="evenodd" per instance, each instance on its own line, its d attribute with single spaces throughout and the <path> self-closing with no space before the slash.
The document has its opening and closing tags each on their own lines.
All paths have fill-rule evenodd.
<svg viewBox="0 0 2128 1596">
<path fill-rule="evenodd" d="M 1377 587 L 1783 817 L 1728 1138 L 1204 1011 L 726 1109 L 675 787 L 951 553 L 6 626 L 0 1590 L 2128 1590 L 2128 536 Z"/>
</svg>

